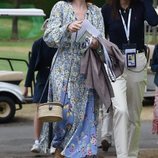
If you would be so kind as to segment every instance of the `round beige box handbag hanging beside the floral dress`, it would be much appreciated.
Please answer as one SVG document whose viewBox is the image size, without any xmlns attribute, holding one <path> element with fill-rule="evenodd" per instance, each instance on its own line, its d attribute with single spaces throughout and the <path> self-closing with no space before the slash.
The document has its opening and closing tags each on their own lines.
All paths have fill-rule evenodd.
<svg viewBox="0 0 158 158">
<path fill-rule="evenodd" d="M 42 122 L 57 122 L 63 118 L 63 105 L 59 102 L 48 102 L 38 107 L 38 118 Z"/>
</svg>

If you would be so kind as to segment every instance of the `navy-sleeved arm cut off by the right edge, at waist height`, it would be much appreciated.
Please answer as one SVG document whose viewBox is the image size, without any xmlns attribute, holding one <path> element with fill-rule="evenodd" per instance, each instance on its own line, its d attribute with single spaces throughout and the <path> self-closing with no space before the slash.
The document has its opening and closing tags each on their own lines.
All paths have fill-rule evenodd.
<svg viewBox="0 0 158 158">
<path fill-rule="evenodd" d="M 158 45 L 155 46 L 154 53 L 151 61 L 151 70 L 158 72 Z"/>
</svg>

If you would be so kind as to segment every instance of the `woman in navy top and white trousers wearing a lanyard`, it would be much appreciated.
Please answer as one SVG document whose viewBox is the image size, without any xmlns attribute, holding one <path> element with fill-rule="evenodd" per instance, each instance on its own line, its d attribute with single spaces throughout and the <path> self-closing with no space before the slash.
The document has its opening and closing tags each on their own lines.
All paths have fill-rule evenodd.
<svg viewBox="0 0 158 158">
<path fill-rule="evenodd" d="M 123 53 L 126 53 L 125 57 L 129 57 L 130 54 L 136 57 L 136 59 L 133 58 L 132 65 L 126 58 L 125 72 L 113 84 L 116 98 L 113 103 L 113 130 L 117 157 L 127 158 L 128 154 L 129 158 L 137 158 L 140 114 L 147 78 L 144 21 L 146 20 L 150 25 L 155 26 L 158 24 L 158 16 L 152 7 L 151 0 L 110 0 L 107 5 L 102 7 L 102 14 L 105 36 L 109 37 L 110 41 L 115 43 Z M 126 117 L 120 122 L 122 108 L 124 113 L 126 106 L 128 106 L 129 112 L 128 136 Z M 104 129 L 103 131 L 107 130 Z M 122 132 L 120 131 L 123 131 L 125 136 L 123 134 L 121 137 L 120 133 Z M 106 133 L 103 134 L 106 138 Z M 126 140 L 127 137 L 128 140 Z M 126 143 L 128 143 L 128 151 L 126 151 Z"/>
</svg>

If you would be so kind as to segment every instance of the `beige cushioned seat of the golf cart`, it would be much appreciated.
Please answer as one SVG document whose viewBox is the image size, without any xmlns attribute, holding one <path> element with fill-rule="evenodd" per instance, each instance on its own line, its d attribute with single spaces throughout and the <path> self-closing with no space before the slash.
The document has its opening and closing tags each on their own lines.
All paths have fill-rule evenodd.
<svg viewBox="0 0 158 158">
<path fill-rule="evenodd" d="M 0 81 L 19 85 L 24 79 L 24 74 L 21 71 L 0 71 Z"/>
</svg>

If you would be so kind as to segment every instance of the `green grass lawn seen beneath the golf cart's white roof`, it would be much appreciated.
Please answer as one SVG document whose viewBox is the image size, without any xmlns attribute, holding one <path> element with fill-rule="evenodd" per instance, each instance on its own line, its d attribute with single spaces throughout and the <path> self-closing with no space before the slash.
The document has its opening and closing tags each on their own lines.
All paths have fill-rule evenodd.
<svg viewBox="0 0 158 158">
<path fill-rule="evenodd" d="M 43 23 L 41 17 L 27 19 L 19 18 L 18 35 L 19 40 L 11 40 L 12 19 L 0 18 L 0 57 L 17 58 L 28 60 L 28 52 L 31 51 L 33 42 L 42 36 L 40 27 Z M 38 26 L 39 25 L 39 26 Z M 30 37 L 30 38 L 29 38 Z M 27 66 L 22 62 L 13 62 L 17 71 L 26 73 Z M 10 70 L 9 64 L 0 60 L 0 70 Z"/>
</svg>

